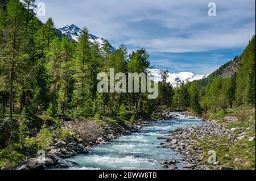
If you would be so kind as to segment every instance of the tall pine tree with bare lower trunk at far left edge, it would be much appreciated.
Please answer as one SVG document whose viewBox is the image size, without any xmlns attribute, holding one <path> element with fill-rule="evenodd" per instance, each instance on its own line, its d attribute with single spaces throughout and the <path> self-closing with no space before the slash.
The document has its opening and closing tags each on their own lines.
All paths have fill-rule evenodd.
<svg viewBox="0 0 256 181">
<path fill-rule="evenodd" d="M 3 64 L 9 72 L 9 118 L 13 118 L 14 103 L 14 83 L 16 73 L 20 68 L 26 68 L 27 55 L 24 54 L 22 44 L 24 43 L 24 12 L 25 9 L 18 0 L 10 0 L 7 3 L 7 14 L 5 19 L 5 30 L 3 36 L 6 37 L 6 44 L 3 48 Z"/>
</svg>

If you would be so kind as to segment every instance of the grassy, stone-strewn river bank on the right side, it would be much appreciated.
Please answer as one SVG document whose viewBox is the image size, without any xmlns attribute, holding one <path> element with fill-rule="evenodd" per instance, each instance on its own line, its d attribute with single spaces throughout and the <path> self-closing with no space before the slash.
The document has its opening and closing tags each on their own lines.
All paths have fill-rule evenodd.
<svg viewBox="0 0 256 181">
<path fill-rule="evenodd" d="M 188 116 L 187 112 L 183 114 Z M 204 121 L 201 126 L 171 132 L 162 148 L 183 157 L 187 162 L 185 169 L 255 169 L 255 110 L 201 120 Z M 165 167 L 166 163 L 162 162 Z M 170 169 L 174 169 L 173 163 L 168 166 Z"/>
</svg>

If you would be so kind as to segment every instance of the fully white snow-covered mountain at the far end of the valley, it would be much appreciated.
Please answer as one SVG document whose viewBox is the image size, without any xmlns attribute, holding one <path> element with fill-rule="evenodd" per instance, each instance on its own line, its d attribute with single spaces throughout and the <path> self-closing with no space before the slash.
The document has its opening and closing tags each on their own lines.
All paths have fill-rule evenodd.
<svg viewBox="0 0 256 181">
<path fill-rule="evenodd" d="M 156 82 L 162 81 L 163 71 L 160 69 L 148 69 L 148 73 L 150 73 L 152 80 Z M 179 86 L 181 82 L 187 83 L 192 81 L 197 81 L 205 78 L 205 75 L 198 75 L 193 72 L 180 72 L 180 73 L 168 73 L 167 82 L 170 82 L 173 87 Z"/>
</svg>

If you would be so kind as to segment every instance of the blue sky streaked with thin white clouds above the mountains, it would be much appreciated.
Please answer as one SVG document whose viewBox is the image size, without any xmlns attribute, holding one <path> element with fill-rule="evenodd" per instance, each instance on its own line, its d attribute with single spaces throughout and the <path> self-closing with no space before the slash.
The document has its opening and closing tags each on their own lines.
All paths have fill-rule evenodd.
<svg viewBox="0 0 256 181">
<path fill-rule="evenodd" d="M 116 48 L 146 48 L 155 68 L 208 74 L 241 54 L 255 35 L 255 0 L 39 0 L 43 22 L 86 26 Z M 208 16 L 208 3 L 217 16 Z"/>
</svg>

